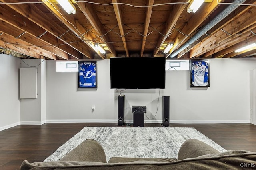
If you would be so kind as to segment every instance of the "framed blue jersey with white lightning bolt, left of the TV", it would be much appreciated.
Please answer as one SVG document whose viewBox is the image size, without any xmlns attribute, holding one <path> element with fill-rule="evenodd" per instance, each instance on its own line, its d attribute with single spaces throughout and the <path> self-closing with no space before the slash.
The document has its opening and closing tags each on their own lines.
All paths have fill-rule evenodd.
<svg viewBox="0 0 256 170">
<path fill-rule="evenodd" d="M 97 88 L 97 61 L 78 61 L 78 89 Z"/>
</svg>

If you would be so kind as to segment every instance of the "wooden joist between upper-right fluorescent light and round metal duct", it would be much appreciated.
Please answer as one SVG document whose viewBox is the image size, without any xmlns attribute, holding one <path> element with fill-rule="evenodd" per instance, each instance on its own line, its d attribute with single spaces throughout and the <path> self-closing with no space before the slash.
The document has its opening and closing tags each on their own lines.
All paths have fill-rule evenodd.
<svg viewBox="0 0 256 170">
<path fill-rule="evenodd" d="M 206 3 L 206 8 L 203 10 L 198 10 L 192 18 L 188 21 L 187 25 L 180 31 L 178 36 L 174 41 L 174 45 L 170 50 L 170 53 L 174 51 L 179 45 L 181 45 L 190 35 L 198 29 L 200 24 L 203 23 L 204 20 L 212 14 L 212 12 L 218 7 L 218 3 L 216 0 L 212 1 L 211 3 Z M 181 55 L 179 55 L 181 57 Z"/>
</svg>

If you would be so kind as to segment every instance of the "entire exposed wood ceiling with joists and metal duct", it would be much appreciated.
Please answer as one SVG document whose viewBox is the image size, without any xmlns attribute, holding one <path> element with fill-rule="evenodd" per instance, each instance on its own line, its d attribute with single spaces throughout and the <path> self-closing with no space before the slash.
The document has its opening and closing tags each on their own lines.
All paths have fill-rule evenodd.
<svg viewBox="0 0 256 170">
<path fill-rule="evenodd" d="M 0 0 L 0 53 L 48 60 L 255 57 L 255 0 Z M 164 53 L 168 43 L 174 43 Z M 99 43 L 106 51 L 94 48 Z"/>
</svg>

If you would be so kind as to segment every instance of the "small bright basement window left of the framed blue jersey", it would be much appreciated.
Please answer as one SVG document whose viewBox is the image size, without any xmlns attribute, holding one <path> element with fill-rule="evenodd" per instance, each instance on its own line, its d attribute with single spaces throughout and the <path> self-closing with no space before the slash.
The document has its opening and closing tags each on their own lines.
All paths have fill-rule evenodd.
<svg viewBox="0 0 256 170">
<path fill-rule="evenodd" d="M 57 61 L 56 72 L 78 72 L 78 61 Z"/>
</svg>

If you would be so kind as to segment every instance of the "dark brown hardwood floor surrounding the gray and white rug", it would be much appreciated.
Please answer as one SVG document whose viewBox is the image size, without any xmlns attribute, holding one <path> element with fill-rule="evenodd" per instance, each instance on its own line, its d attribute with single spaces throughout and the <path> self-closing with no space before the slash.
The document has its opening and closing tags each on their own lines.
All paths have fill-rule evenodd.
<svg viewBox="0 0 256 170">
<path fill-rule="evenodd" d="M 18 125 L 0 131 L 0 170 L 18 170 L 23 160 L 43 161 L 85 126 L 116 125 L 117 123 L 45 123 Z M 145 123 L 144 126 L 162 127 L 156 123 Z M 256 151 L 256 125 L 170 124 L 170 127 L 194 127 L 226 150 Z"/>
</svg>

